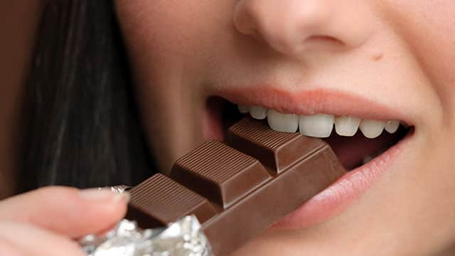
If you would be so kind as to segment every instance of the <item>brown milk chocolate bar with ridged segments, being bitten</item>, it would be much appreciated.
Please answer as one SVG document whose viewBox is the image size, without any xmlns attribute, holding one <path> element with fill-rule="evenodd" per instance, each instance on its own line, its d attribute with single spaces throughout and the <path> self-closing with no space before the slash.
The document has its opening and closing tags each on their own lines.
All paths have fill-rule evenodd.
<svg viewBox="0 0 455 256">
<path fill-rule="evenodd" d="M 345 173 L 321 139 L 246 117 L 225 143 L 205 142 L 170 177 L 155 174 L 133 188 L 127 218 L 157 228 L 196 215 L 214 254 L 227 255 Z"/>
</svg>

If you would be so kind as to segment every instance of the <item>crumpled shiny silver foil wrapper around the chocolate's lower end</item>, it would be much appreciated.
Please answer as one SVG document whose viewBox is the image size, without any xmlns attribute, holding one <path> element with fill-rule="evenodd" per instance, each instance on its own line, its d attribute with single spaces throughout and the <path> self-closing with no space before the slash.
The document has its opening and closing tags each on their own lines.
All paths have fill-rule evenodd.
<svg viewBox="0 0 455 256">
<path fill-rule="evenodd" d="M 126 188 L 111 189 L 123 193 Z M 134 221 L 121 220 L 105 235 L 86 235 L 79 243 L 89 256 L 212 256 L 195 215 L 146 230 L 139 230 Z"/>
</svg>

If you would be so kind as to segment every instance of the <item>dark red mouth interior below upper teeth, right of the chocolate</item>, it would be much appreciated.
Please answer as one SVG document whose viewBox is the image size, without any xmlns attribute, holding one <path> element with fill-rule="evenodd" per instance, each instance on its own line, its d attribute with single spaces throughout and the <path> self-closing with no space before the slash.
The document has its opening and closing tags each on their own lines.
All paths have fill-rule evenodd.
<svg viewBox="0 0 455 256">
<path fill-rule="evenodd" d="M 342 137 L 333 132 L 326 142 L 332 147 L 336 156 L 347 170 L 354 169 L 363 163 L 365 156 L 378 153 L 380 150 L 388 149 L 398 142 L 402 137 L 401 132 L 389 134 L 382 132 L 380 137 L 368 139 L 358 131 L 353 137 Z"/>
</svg>

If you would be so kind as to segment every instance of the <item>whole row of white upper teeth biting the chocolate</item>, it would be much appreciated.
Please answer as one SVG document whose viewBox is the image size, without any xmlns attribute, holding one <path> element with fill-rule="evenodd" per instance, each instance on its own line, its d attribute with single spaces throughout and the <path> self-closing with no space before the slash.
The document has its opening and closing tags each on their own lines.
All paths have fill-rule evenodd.
<svg viewBox="0 0 455 256">
<path fill-rule="evenodd" d="M 276 131 L 296 132 L 300 128 L 301 134 L 319 138 L 329 137 L 333 124 L 335 124 L 335 132 L 338 135 L 354 136 L 360 128 L 363 135 L 370 139 L 380 136 L 384 129 L 389 133 L 394 133 L 400 126 L 398 120 L 378 121 L 350 116 L 334 117 L 333 114 L 282 114 L 276 110 L 267 110 L 259 106 L 239 105 L 238 108 L 242 113 L 250 112 L 255 119 L 267 117 L 269 126 Z"/>
</svg>

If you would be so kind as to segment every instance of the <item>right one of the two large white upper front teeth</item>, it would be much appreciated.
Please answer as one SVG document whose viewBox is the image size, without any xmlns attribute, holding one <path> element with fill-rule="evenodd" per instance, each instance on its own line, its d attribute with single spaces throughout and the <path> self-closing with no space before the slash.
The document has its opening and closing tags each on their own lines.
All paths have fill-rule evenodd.
<svg viewBox="0 0 455 256">
<path fill-rule="evenodd" d="M 306 136 L 326 138 L 333 129 L 333 114 L 301 114 L 299 120 L 300 133 Z"/>
</svg>

